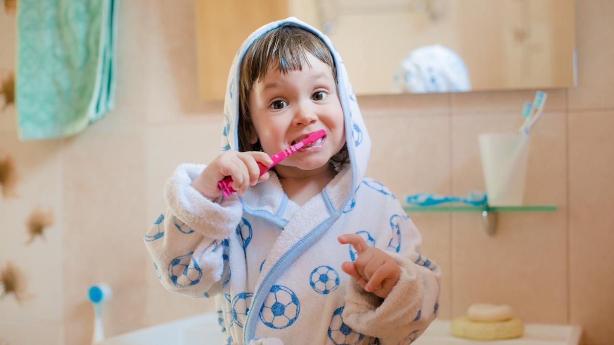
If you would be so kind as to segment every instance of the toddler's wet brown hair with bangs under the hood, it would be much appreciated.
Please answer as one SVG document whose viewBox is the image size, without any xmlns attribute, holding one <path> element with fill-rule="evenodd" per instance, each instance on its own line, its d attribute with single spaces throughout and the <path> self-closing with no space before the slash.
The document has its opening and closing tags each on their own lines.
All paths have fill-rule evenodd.
<svg viewBox="0 0 614 345">
<path fill-rule="evenodd" d="M 319 37 L 299 26 L 279 26 L 258 37 L 247 49 L 239 74 L 239 151 L 262 151 L 260 140 L 255 144 L 249 142 L 249 133 L 254 131 L 249 115 L 249 93 L 254 83 L 263 80 L 271 68 L 286 74 L 297 69 L 301 71 L 303 63 L 311 67 L 306 53 L 311 53 L 330 67 L 337 85 L 336 67 L 330 50 Z M 330 160 L 335 168 L 348 162 L 347 145 L 344 144 Z"/>
</svg>

